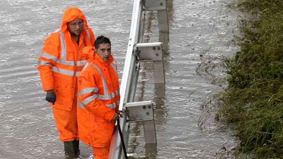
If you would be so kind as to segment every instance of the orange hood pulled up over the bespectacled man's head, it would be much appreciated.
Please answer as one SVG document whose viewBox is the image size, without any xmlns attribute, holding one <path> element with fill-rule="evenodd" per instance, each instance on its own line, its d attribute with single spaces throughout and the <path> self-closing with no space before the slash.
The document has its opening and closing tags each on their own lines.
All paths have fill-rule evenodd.
<svg viewBox="0 0 283 159">
<path fill-rule="evenodd" d="M 68 26 L 67 23 L 71 22 L 72 20 L 76 19 L 76 18 L 80 18 L 83 20 L 83 29 L 87 29 L 88 25 L 87 25 L 87 21 L 85 18 L 85 15 L 83 14 L 83 12 L 78 8 L 78 7 L 68 7 L 62 17 L 62 23 L 61 23 L 61 31 L 65 32 L 68 30 Z"/>
</svg>

